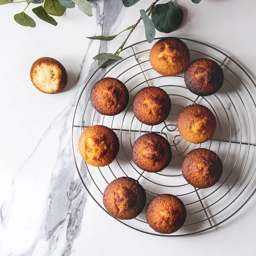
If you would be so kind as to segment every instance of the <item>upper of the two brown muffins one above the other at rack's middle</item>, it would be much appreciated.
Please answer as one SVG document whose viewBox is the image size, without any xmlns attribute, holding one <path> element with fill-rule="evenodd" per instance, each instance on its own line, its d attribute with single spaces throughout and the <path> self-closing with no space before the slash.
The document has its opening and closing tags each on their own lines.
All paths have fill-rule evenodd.
<svg viewBox="0 0 256 256">
<path fill-rule="evenodd" d="M 158 125 L 168 117 L 171 100 L 163 89 L 149 86 L 136 93 L 132 108 L 134 116 L 143 124 Z"/>
</svg>

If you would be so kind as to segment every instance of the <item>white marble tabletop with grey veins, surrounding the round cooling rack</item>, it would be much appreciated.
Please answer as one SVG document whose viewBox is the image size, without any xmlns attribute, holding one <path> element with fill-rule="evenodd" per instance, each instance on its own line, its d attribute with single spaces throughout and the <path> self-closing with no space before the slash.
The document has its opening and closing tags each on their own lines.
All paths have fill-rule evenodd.
<svg viewBox="0 0 256 256">
<path fill-rule="evenodd" d="M 120 2 L 92 1 L 93 17 L 69 9 L 56 18 L 57 27 L 37 20 L 35 29 L 13 20 L 22 4 L 0 6 L 0 255 L 253 255 L 255 196 L 215 230 L 171 239 L 119 224 L 87 196 L 70 142 L 74 104 L 96 68 L 92 57 L 99 47 L 114 52 L 125 35 L 107 44 L 86 36 L 100 35 L 102 30 L 113 34 L 130 26 L 139 10 L 151 3 L 141 0 L 125 8 Z M 173 36 L 222 49 L 256 80 L 255 1 L 175 2 L 183 6 L 185 20 Z M 128 44 L 140 40 L 144 40 L 141 25 Z M 47 95 L 32 85 L 29 69 L 42 56 L 56 58 L 66 67 L 69 80 L 62 93 Z"/>
</svg>

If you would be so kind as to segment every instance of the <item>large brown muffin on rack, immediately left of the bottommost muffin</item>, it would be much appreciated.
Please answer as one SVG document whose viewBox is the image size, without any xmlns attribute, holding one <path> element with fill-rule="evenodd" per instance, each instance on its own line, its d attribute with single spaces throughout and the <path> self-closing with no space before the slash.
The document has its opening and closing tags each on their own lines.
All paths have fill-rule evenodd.
<svg viewBox="0 0 256 256">
<path fill-rule="evenodd" d="M 106 187 L 103 204 L 113 217 L 130 220 L 143 211 L 146 193 L 137 180 L 130 177 L 117 178 Z"/>
</svg>

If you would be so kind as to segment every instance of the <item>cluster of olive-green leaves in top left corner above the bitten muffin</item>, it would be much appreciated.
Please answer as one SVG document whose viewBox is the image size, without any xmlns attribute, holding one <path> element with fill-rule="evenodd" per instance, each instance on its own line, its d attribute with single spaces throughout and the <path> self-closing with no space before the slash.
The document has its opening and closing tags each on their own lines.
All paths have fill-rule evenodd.
<svg viewBox="0 0 256 256">
<path fill-rule="evenodd" d="M 32 28 L 36 26 L 35 20 L 25 13 L 25 10 L 30 3 L 41 4 L 40 6 L 33 8 L 32 12 L 34 12 L 39 19 L 44 20 L 53 26 L 57 26 L 58 23 L 52 16 L 62 16 L 67 8 L 74 8 L 76 5 L 86 15 L 93 15 L 92 6 L 87 0 L 21 0 L 17 2 L 12 0 L 0 0 L 0 5 L 7 3 L 26 3 L 27 5 L 23 12 L 15 14 L 14 19 L 20 25 L 30 26 Z"/>
</svg>

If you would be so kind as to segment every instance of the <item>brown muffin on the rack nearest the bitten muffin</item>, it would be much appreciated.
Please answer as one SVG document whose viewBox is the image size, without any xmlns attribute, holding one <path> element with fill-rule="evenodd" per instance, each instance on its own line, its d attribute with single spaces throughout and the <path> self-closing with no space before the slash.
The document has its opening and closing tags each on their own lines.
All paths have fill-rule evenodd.
<svg viewBox="0 0 256 256">
<path fill-rule="evenodd" d="M 129 92 L 118 79 L 107 77 L 96 82 L 90 93 L 93 108 L 100 114 L 114 116 L 121 113 L 129 102 Z"/>
</svg>

